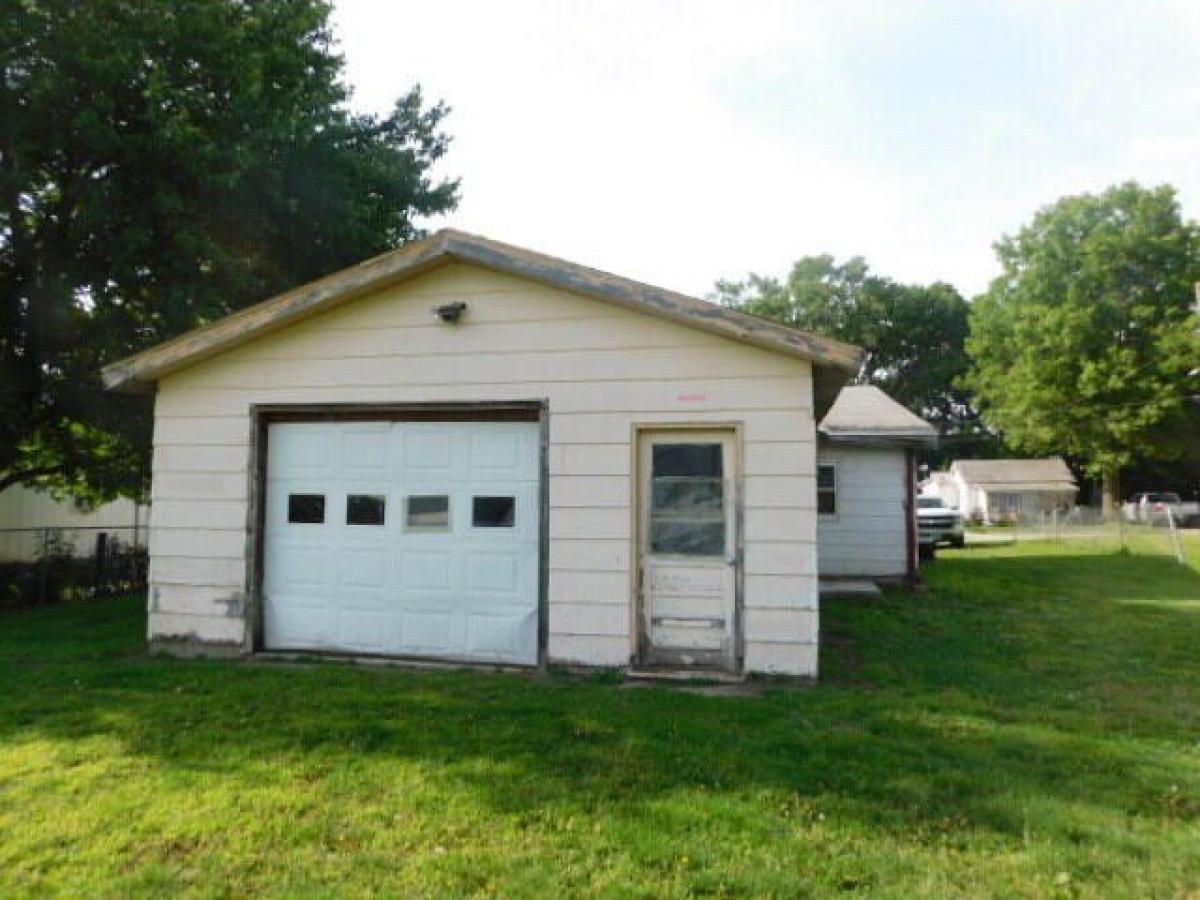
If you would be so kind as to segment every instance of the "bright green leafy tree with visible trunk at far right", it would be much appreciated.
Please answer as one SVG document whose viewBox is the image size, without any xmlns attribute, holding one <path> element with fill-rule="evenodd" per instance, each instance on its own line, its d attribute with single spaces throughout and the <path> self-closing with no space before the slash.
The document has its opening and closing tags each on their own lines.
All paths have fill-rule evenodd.
<svg viewBox="0 0 1200 900">
<path fill-rule="evenodd" d="M 1123 468 L 1200 443 L 1200 232 L 1172 188 L 1124 184 L 1046 206 L 996 251 L 966 383 L 1010 445 L 1103 476 L 1111 514 Z"/>
</svg>

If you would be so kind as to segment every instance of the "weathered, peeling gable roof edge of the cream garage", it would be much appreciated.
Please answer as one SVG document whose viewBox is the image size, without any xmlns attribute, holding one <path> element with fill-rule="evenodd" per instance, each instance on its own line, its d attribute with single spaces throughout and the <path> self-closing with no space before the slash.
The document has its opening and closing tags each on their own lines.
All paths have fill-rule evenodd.
<svg viewBox="0 0 1200 900">
<path fill-rule="evenodd" d="M 148 388 L 170 372 L 452 262 L 469 263 L 606 300 L 636 312 L 660 316 L 734 341 L 798 356 L 815 366 L 834 370 L 839 383 L 857 371 L 862 359 L 859 348 L 841 341 L 577 263 L 445 228 L 424 240 L 301 284 L 104 366 L 104 385 L 125 390 Z"/>
</svg>

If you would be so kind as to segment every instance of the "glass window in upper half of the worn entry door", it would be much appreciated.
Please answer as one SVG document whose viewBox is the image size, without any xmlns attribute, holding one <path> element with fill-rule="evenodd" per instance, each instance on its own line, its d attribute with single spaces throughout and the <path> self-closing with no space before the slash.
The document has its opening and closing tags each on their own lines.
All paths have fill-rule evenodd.
<svg viewBox="0 0 1200 900">
<path fill-rule="evenodd" d="M 721 451 L 721 444 L 655 444 L 652 448 L 652 553 L 725 553 Z"/>
</svg>

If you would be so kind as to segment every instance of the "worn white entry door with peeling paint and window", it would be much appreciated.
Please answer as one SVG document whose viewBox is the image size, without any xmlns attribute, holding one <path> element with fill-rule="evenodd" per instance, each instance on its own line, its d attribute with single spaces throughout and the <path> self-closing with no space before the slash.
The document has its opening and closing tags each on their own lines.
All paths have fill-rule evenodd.
<svg viewBox="0 0 1200 900">
<path fill-rule="evenodd" d="M 733 434 L 646 432 L 638 469 L 641 661 L 733 671 Z"/>
</svg>

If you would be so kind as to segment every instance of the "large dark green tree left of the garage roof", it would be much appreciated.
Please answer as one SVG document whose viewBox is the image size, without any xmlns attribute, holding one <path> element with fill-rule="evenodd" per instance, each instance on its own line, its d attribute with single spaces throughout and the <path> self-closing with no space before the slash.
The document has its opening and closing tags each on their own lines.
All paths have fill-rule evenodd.
<svg viewBox="0 0 1200 900">
<path fill-rule="evenodd" d="M 320 0 L 10 0 L 0 488 L 134 493 L 148 404 L 98 367 L 420 234 L 457 184 L 419 89 L 347 110 Z"/>
</svg>

